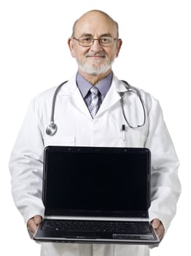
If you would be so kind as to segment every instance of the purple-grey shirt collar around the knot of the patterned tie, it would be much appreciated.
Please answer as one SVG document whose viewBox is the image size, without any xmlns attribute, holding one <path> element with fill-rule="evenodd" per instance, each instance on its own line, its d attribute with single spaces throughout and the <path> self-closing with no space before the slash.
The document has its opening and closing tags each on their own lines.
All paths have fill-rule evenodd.
<svg viewBox="0 0 191 256">
<path fill-rule="evenodd" d="M 106 78 L 102 79 L 96 84 L 96 87 L 101 93 L 102 97 L 106 96 L 106 93 L 109 91 L 109 88 L 112 84 L 112 78 L 113 78 L 113 73 L 110 72 L 109 75 L 106 76 Z M 77 72 L 77 86 L 79 88 L 79 91 L 82 94 L 83 99 L 87 96 L 88 91 L 91 89 L 93 86 L 92 83 L 88 82 L 82 75 Z"/>
</svg>

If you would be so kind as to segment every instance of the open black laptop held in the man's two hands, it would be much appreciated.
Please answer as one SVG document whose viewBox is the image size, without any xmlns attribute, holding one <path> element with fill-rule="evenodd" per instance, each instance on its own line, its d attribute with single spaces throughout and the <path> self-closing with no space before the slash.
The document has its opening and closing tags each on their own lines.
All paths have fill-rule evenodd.
<svg viewBox="0 0 191 256">
<path fill-rule="evenodd" d="M 39 242 L 157 244 L 148 148 L 44 148 Z"/>
</svg>

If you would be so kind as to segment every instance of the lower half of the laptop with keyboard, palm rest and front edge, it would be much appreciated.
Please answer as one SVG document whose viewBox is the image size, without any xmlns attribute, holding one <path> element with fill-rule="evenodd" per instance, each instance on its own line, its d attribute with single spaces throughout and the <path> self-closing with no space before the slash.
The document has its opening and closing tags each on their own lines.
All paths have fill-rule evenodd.
<svg viewBox="0 0 191 256">
<path fill-rule="evenodd" d="M 49 223 L 50 222 L 50 223 Z M 34 234 L 34 240 L 37 242 L 56 242 L 56 243 L 86 243 L 86 244 L 158 244 L 159 239 L 152 229 L 149 222 L 104 222 L 101 224 L 109 224 L 111 226 L 123 225 L 122 229 L 117 232 L 112 232 L 111 230 L 106 230 L 104 227 L 101 230 L 100 227 L 85 228 L 81 227 L 79 230 L 75 230 L 74 227 L 68 227 L 63 230 L 61 228 L 61 222 L 68 222 L 67 220 L 49 220 L 44 219 L 44 221 L 39 225 L 36 233 Z M 69 220 L 69 222 L 71 222 Z M 72 223 L 74 220 L 72 220 Z M 76 220 L 82 225 L 82 220 Z M 93 221 L 100 224 L 103 221 Z M 93 224 L 92 222 L 92 224 Z M 135 227 L 136 224 L 136 227 Z M 135 227 L 131 228 L 130 226 Z M 90 221 L 88 221 L 87 226 L 91 226 Z M 138 227 L 144 227 L 144 230 L 139 230 Z M 50 228 L 49 228 L 50 227 Z M 124 227 L 128 229 L 124 230 Z M 115 227 L 115 229 L 117 229 Z"/>
</svg>

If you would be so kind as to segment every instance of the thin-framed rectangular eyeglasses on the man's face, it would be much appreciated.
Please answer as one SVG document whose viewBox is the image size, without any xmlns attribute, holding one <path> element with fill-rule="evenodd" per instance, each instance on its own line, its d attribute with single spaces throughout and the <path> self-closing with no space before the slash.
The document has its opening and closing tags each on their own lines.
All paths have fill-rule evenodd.
<svg viewBox="0 0 191 256">
<path fill-rule="evenodd" d="M 93 38 L 93 37 L 79 37 L 79 39 L 72 37 L 74 40 L 79 42 L 79 45 L 89 47 L 93 45 L 95 40 L 98 40 L 101 46 L 111 46 L 114 44 L 114 41 L 117 38 L 114 37 L 100 37 L 100 38 Z"/>
</svg>

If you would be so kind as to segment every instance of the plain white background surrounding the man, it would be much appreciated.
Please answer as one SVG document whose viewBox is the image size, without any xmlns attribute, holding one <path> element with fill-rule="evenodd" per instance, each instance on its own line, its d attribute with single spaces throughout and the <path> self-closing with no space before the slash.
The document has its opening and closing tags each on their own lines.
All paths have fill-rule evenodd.
<svg viewBox="0 0 191 256">
<path fill-rule="evenodd" d="M 28 238 L 23 218 L 12 201 L 9 154 L 29 101 L 76 72 L 67 39 L 74 20 L 92 9 L 108 12 L 119 23 L 123 45 L 114 63 L 114 73 L 159 99 L 181 162 L 182 195 L 178 211 L 165 239 L 157 249 L 152 249 L 151 255 L 176 256 L 182 254 L 182 249 L 189 255 L 189 0 L 0 1 L 0 250 L 4 255 L 39 255 L 39 245 Z"/>
</svg>

